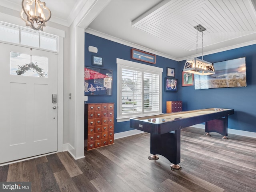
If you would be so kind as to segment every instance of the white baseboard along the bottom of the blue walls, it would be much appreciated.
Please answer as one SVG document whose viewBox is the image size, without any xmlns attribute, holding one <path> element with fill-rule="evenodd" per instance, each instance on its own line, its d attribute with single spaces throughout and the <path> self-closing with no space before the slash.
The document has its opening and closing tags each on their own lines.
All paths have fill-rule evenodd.
<svg viewBox="0 0 256 192">
<path fill-rule="evenodd" d="M 204 124 L 196 124 L 196 125 L 193 125 L 191 127 L 204 129 Z M 114 139 L 120 139 L 120 138 L 123 138 L 123 137 L 128 137 L 128 136 L 132 136 L 132 135 L 136 135 L 136 134 L 140 134 L 140 133 L 144 133 L 144 132 L 135 129 L 135 130 L 124 131 L 124 132 L 120 132 L 120 133 L 115 133 L 114 134 Z M 245 136 L 245 137 L 256 138 L 256 132 L 242 131 L 242 130 L 236 130 L 236 129 L 228 128 L 228 133 L 229 134 L 234 134 L 234 135 Z"/>
</svg>

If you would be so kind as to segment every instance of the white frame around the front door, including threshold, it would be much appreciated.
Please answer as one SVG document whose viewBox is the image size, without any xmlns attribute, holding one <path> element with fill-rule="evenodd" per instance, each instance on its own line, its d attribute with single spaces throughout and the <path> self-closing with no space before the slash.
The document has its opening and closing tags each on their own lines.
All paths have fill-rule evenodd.
<svg viewBox="0 0 256 192">
<path fill-rule="evenodd" d="M 0 41 L 1 43 L 5 43 L 5 44 L 10 44 L 10 45 L 15 45 L 15 46 L 21 46 L 21 47 L 28 47 L 28 48 L 33 48 L 36 50 L 41 50 L 40 48 L 36 48 L 36 47 L 29 47 L 29 46 L 24 46 L 21 44 L 15 44 L 15 43 L 10 43 L 10 42 L 4 42 L 4 41 Z M 50 152 L 47 154 L 42 154 L 42 155 L 38 155 L 38 156 L 34 156 L 34 157 L 29 157 L 29 158 L 24 158 L 24 159 L 20 159 L 20 160 L 15 160 L 12 162 L 6 162 L 3 164 L 0 164 L 0 166 L 4 166 L 4 165 L 8 165 L 8 164 L 12 164 L 12 163 L 16 163 L 16 162 L 21 162 L 24 160 L 29 160 L 29 159 L 34 159 L 34 158 L 38 158 L 41 156 L 46 156 L 49 154 L 54 154 L 57 152 L 62 152 L 63 151 L 63 66 L 64 66 L 64 36 L 59 36 L 58 37 L 58 52 L 54 52 L 54 53 L 58 53 L 58 120 L 57 120 L 57 151 L 56 152 Z M 44 50 L 44 51 L 48 51 L 48 52 L 53 52 L 50 50 Z"/>
</svg>

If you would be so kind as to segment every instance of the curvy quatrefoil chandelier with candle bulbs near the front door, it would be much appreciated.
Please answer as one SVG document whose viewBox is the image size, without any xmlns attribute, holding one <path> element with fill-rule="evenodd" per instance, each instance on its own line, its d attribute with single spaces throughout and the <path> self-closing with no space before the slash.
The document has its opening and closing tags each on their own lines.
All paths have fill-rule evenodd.
<svg viewBox="0 0 256 192">
<path fill-rule="evenodd" d="M 20 18 L 34 30 L 43 30 L 52 13 L 40 0 L 22 0 Z"/>
</svg>

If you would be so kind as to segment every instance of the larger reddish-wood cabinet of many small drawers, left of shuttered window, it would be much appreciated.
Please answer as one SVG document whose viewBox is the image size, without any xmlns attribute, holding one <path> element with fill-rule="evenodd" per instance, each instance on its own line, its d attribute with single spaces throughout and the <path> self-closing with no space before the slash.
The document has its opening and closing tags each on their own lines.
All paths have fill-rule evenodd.
<svg viewBox="0 0 256 192">
<path fill-rule="evenodd" d="M 114 103 L 84 104 L 86 150 L 114 143 Z"/>
</svg>

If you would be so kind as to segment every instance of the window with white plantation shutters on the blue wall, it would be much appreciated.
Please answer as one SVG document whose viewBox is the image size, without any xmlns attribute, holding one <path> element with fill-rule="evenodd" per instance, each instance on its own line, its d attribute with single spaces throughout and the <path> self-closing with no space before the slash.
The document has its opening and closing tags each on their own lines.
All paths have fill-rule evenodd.
<svg viewBox="0 0 256 192">
<path fill-rule="evenodd" d="M 162 68 L 117 59 L 118 122 L 162 113 Z"/>
</svg>

